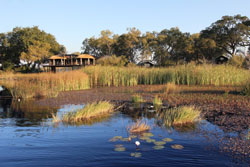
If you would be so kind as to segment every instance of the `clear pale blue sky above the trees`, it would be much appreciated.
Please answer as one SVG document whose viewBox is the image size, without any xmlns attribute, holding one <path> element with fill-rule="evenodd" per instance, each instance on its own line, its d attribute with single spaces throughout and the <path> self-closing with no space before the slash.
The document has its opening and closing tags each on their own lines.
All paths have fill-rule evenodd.
<svg viewBox="0 0 250 167">
<path fill-rule="evenodd" d="M 198 33 L 225 15 L 250 18 L 250 0 L 0 0 L 0 33 L 38 26 L 68 53 L 102 30 L 142 33 L 179 27 Z"/>
</svg>

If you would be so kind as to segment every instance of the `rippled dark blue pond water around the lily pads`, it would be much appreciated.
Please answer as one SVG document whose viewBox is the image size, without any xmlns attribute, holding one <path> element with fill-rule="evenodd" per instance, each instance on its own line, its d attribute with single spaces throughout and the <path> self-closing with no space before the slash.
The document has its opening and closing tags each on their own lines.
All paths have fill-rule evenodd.
<svg viewBox="0 0 250 167">
<path fill-rule="evenodd" d="M 109 118 L 82 125 L 53 126 L 52 113 L 84 105 L 52 109 L 32 104 L 0 100 L 0 166 L 248 166 L 249 163 L 247 158 L 221 152 L 217 138 L 237 134 L 224 133 L 207 121 L 174 129 L 162 126 L 152 113 L 140 113 L 140 118 L 152 127 L 151 139 L 173 140 L 155 150 L 154 143 L 140 136 L 131 142 L 110 141 L 115 136 L 127 138 L 127 126 L 139 118 L 138 114 L 117 111 Z M 135 141 L 140 141 L 139 147 Z M 183 148 L 174 149 L 176 144 Z"/>
</svg>

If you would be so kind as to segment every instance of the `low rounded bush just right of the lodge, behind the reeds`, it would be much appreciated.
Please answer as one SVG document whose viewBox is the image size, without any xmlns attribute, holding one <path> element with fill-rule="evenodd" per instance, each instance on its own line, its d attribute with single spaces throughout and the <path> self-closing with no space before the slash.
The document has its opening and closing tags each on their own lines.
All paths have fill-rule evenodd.
<svg viewBox="0 0 250 167">
<path fill-rule="evenodd" d="M 125 56 L 104 56 L 97 60 L 97 64 L 100 64 L 102 66 L 125 66 L 127 63 L 128 60 Z"/>
</svg>

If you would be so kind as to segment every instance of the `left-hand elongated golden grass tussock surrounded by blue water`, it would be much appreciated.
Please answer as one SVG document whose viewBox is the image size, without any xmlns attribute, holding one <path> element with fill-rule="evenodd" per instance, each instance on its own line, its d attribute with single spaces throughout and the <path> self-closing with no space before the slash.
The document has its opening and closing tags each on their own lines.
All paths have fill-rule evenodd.
<svg viewBox="0 0 250 167">
<path fill-rule="evenodd" d="M 100 101 L 87 104 L 83 109 L 71 111 L 63 115 L 62 121 L 65 123 L 77 123 L 83 120 L 90 120 L 114 112 L 114 105 L 108 101 Z"/>
</svg>

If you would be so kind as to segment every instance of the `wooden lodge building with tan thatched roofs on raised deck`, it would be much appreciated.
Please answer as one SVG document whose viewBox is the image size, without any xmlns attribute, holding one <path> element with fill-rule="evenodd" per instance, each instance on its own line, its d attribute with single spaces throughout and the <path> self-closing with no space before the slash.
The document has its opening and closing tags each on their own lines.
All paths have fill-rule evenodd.
<svg viewBox="0 0 250 167">
<path fill-rule="evenodd" d="M 65 54 L 65 55 L 54 55 L 49 59 L 49 63 L 47 65 L 43 65 L 45 71 L 53 71 L 56 72 L 57 69 L 64 70 L 66 68 L 77 69 L 82 66 L 95 65 L 95 57 L 89 54 Z"/>
</svg>

